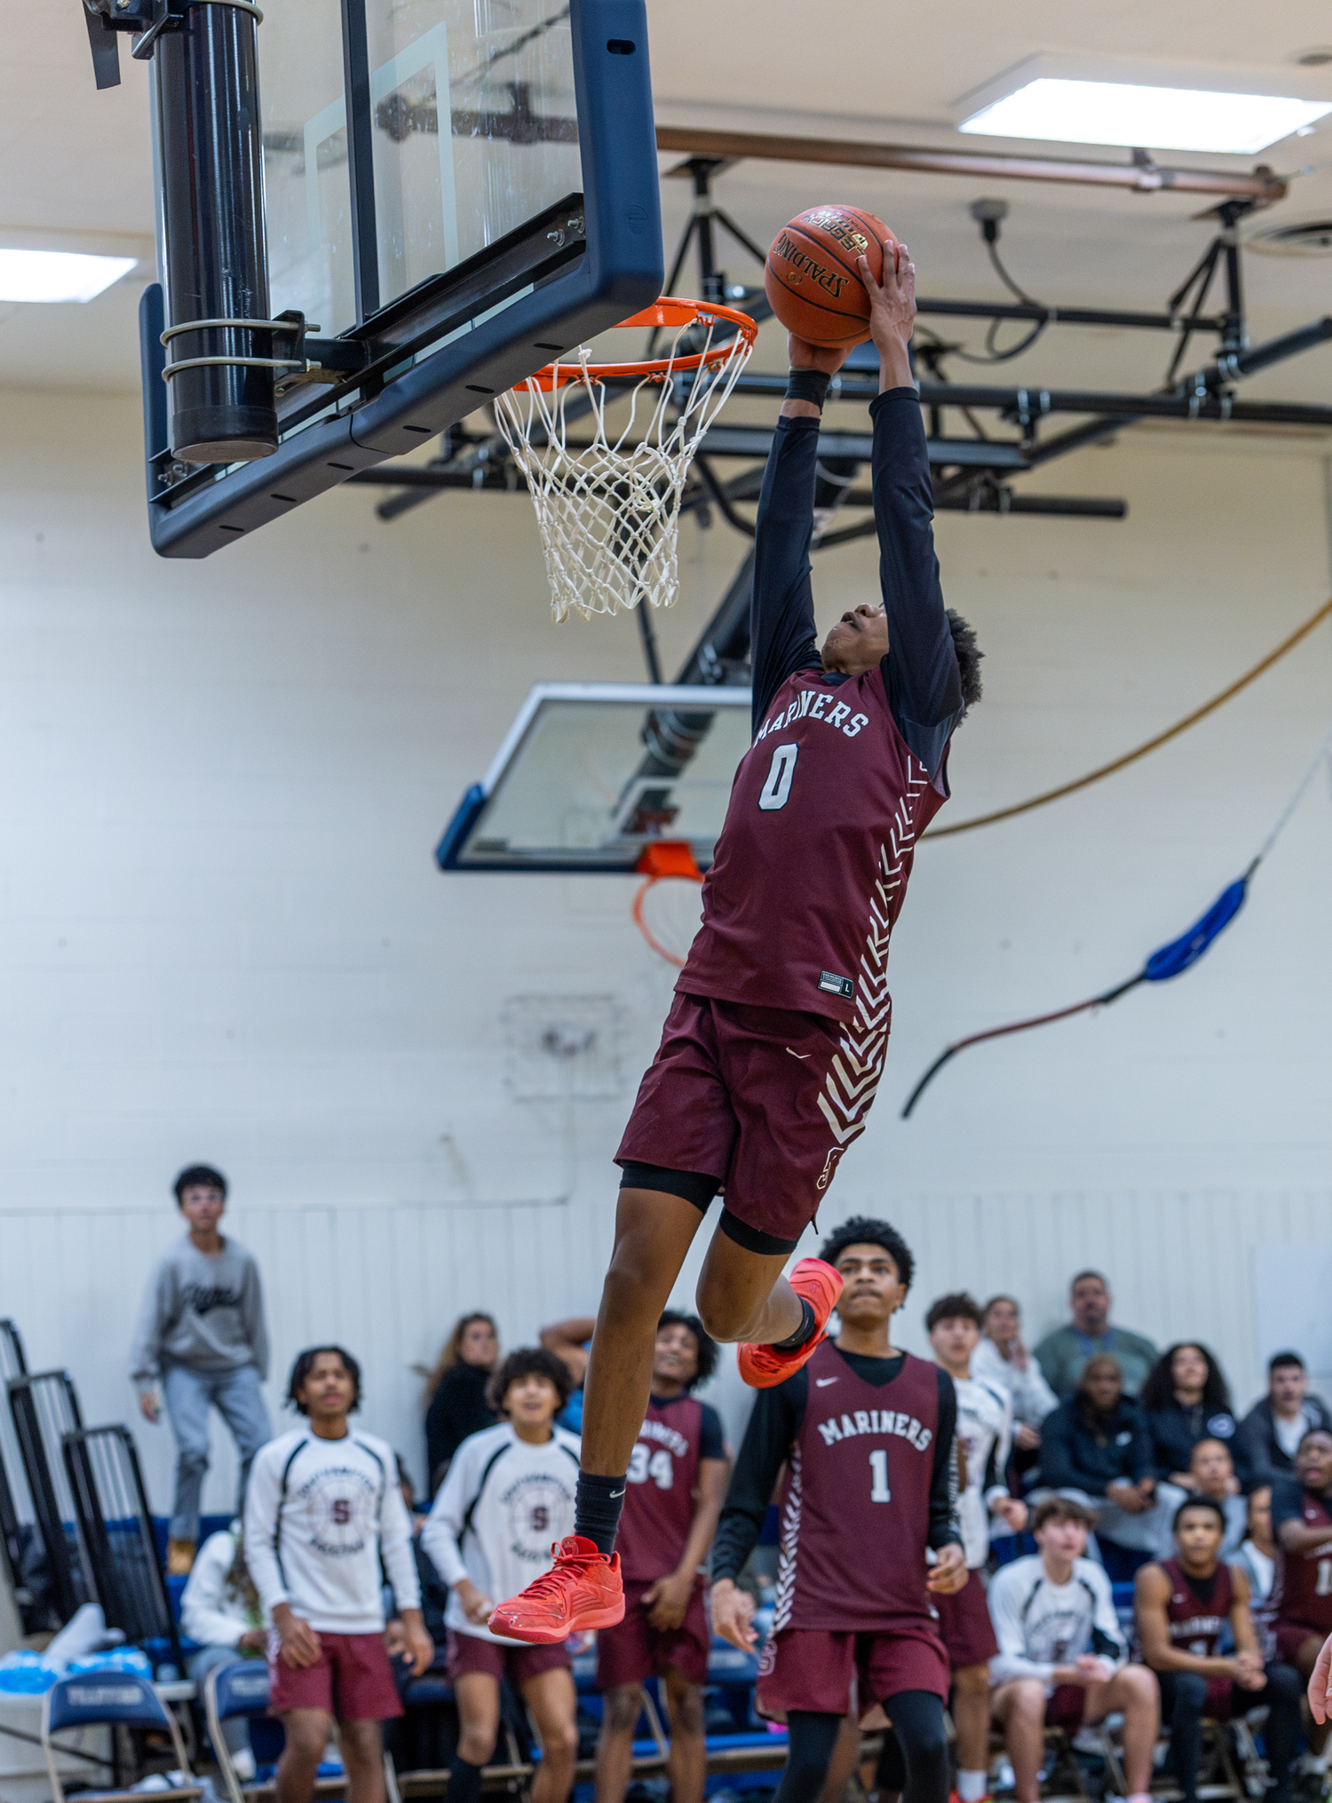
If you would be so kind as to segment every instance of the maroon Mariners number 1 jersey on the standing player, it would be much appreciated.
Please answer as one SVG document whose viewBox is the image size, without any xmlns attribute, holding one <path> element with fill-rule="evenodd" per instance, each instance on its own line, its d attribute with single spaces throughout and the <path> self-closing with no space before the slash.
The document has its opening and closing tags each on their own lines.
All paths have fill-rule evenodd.
<svg viewBox="0 0 1332 1803">
<path fill-rule="evenodd" d="M 874 1388 L 826 1340 L 806 1370 L 804 1421 L 782 1484 L 773 1632 L 932 1625 L 925 1549 L 937 1368 L 907 1352 L 894 1381 Z"/>
</svg>

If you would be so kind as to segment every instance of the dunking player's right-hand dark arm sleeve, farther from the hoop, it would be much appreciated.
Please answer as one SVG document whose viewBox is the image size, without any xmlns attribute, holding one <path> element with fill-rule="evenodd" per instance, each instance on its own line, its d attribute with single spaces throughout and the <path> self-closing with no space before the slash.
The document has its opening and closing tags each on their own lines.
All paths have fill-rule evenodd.
<svg viewBox="0 0 1332 1803">
<path fill-rule="evenodd" d="M 880 588 L 889 617 L 883 682 L 898 730 L 925 768 L 943 763 L 963 718 L 963 678 L 934 555 L 934 485 L 914 388 L 871 402 Z"/>
</svg>

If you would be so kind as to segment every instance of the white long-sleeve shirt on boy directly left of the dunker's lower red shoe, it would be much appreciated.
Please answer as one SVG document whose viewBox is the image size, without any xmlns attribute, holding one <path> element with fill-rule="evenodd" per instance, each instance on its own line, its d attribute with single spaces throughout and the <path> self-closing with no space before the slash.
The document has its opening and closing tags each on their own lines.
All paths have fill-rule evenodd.
<svg viewBox="0 0 1332 1803">
<path fill-rule="evenodd" d="M 422 1527 L 422 1547 L 449 1585 L 443 1619 L 454 1634 L 523 1644 L 469 1621 L 454 1587 L 470 1578 L 503 1603 L 548 1572 L 552 1543 L 573 1533 L 577 1480 L 579 1439 L 564 1428 L 543 1446 L 521 1441 L 506 1421 L 463 1441 Z"/>
</svg>

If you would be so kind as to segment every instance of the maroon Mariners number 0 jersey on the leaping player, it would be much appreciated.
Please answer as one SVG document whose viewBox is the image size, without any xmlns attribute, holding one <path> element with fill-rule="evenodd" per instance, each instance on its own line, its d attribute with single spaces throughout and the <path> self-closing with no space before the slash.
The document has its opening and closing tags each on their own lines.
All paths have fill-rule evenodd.
<svg viewBox="0 0 1332 1803">
<path fill-rule="evenodd" d="M 946 795 L 943 768 L 935 781 L 898 730 L 878 665 L 788 676 L 735 772 L 676 988 L 854 1020 L 865 1058 L 889 1031 L 889 934 L 916 840 Z"/>
</svg>

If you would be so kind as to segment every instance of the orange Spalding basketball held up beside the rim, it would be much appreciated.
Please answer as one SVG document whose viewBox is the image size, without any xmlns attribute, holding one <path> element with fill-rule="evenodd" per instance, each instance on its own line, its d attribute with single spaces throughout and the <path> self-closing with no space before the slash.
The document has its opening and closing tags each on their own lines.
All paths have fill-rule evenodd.
<svg viewBox="0 0 1332 1803">
<path fill-rule="evenodd" d="M 878 281 L 892 233 L 860 207 L 809 207 L 782 225 L 762 265 L 771 310 L 809 344 L 851 346 L 869 337 L 869 294 L 856 258 Z M 896 242 L 896 240 L 894 240 Z"/>
</svg>

